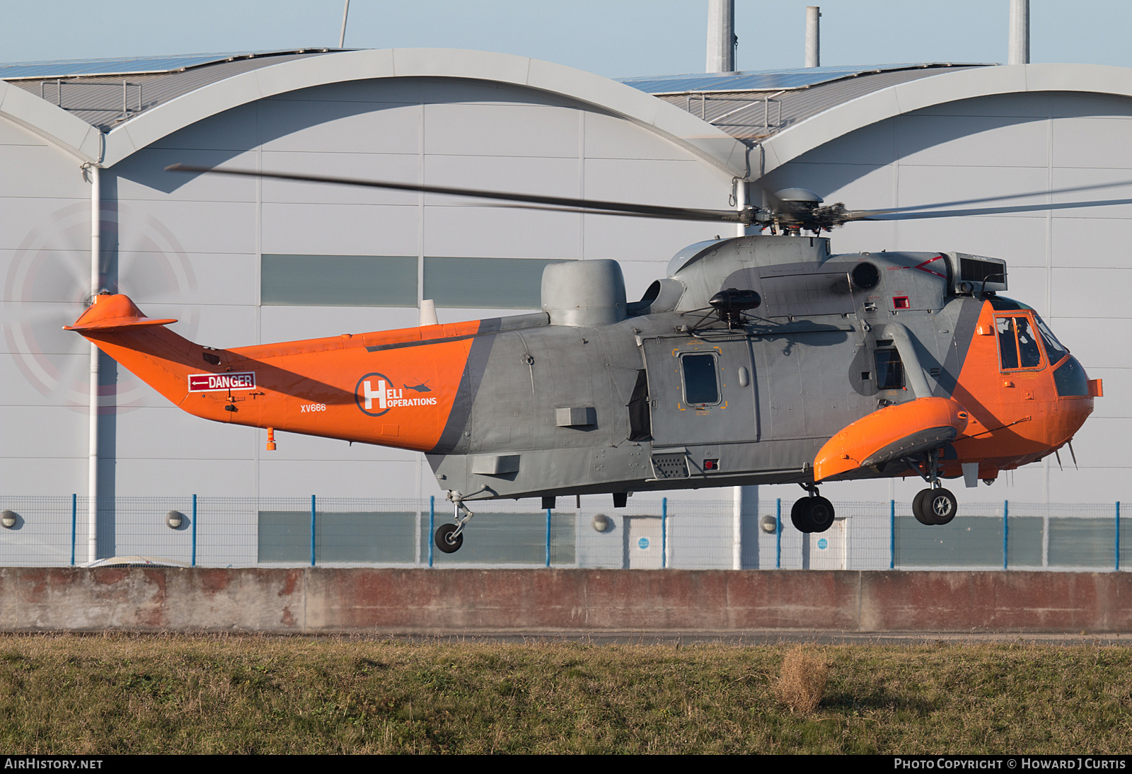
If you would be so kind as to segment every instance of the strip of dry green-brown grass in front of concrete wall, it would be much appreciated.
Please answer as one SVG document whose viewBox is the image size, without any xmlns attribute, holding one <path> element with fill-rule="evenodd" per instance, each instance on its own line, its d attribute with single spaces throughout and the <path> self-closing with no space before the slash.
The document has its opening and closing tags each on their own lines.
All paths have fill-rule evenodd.
<svg viewBox="0 0 1132 774">
<path fill-rule="evenodd" d="M 0 635 L 0 749 L 121 752 L 1132 751 L 1132 648 Z M 805 670 L 803 670 L 805 672 Z"/>
</svg>

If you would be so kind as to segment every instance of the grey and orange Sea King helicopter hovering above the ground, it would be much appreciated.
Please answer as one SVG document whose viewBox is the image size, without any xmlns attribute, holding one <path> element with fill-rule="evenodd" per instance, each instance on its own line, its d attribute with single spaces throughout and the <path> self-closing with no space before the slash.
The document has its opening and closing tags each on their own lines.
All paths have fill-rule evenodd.
<svg viewBox="0 0 1132 774">
<path fill-rule="evenodd" d="M 834 510 L 818 484 L 920 476 L 921 524 L 958 510 L 945 479 L 993 482 L 1069 444 L 1103 394 L 1037 312 L 1000 295 L 1004 260 L 835 255 L 852 221 L 1129 204 L 970 208 L 1014 197 L 851 210 L 805 189 L 737 210 L 528 196 L 174 164 L 174 171 L 472 196 L 499 206 L 740 223 L 686 247 L 638 301 L 615 260 L 550 264 L 530 315 L 216 350 L 101 295 L 69 326 L 197 416 L 423 452 L 463 542 L 495 498 L 798 483 L 801 532 Z M 1126 183 L 1114 183 L 1126 184 Z M 1087 186 L 1041 194 L 1080 191 Z M 1020 195 L 1022 196 L 1022 195 Z M 769 201 L 769 204 L 765 204 Z M 762 233 L 769 231 L 770 233 Z M 1070 447 L 1072 450 L 1072 447 Z"/>
</svg>

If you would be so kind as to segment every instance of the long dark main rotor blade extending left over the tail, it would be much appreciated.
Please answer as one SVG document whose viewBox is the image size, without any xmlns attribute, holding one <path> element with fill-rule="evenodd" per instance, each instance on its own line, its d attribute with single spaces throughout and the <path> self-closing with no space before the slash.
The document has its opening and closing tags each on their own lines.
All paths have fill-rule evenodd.
<svg viewBox="0 0 1132 774">
<path fill-rule="evenodd" d="M 395 191 L 417 191 L 419 194 L 440 194 L 444 196 L 468 196 L 478 199 L 496 199 L 503 201 L 523 201 L 550 207 L 572 207 L 571 212 L 592 212 L 607 215 L 636 215 L 644 217 L 661 217 L 679 221 L 739 221 L 740 215 L 734 209 L 694 209 L 689 207 L 663 207 L 660 205 L 627 204 L 624 201 L 602 201 L 599 199 L 574 199 L 561 196 L 535 196 L 532 194 L 507 194 L 504 191 L 484 191 L 473 188 L 447 188 L 443 186 L 421 186 L 418 183 L 397 183 L 380 180 L 360 180 L 358 178 L 331 178 L 314 174 L 291 174 L 286 172 L 257 172 L 255 170 L 214 169 L 211 166 L 194 166 L 191 164 L 171 164 L 165 167 L 170 172 L 214 172 L 217 174 L 235 174 L 247 178 L 273 178 L 275 180 L 298 180 L 301 182 L 325 182 L 337 186 L 360 186 L 363 188 L 384 188 Z"/>
</svg>

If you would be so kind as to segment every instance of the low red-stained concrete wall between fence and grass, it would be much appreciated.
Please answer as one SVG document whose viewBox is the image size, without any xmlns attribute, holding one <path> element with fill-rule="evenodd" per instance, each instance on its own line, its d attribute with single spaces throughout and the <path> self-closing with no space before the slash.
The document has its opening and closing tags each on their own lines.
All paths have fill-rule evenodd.
<svg viewBox="0 0 1132 774">
<path fill-rule="evenodd" d="M 1118 573 L 0 569 L 0 630 L 277 634 L 1132 629 Z"/>
</svg>

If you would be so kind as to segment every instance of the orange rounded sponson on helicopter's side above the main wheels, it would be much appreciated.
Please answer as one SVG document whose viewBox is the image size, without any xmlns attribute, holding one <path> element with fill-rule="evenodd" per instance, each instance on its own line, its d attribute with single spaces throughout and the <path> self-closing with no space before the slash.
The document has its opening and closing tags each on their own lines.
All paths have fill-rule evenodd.
<svg viewBox="0 0 1132 774">
<path fill-rule="evenodd" d="M 825 442 L 814 457 L 814 481 L 938 448 L 958 438 L 967 420 L 963 406 L 941 397 L 874 411 Z"/>
</svg>

